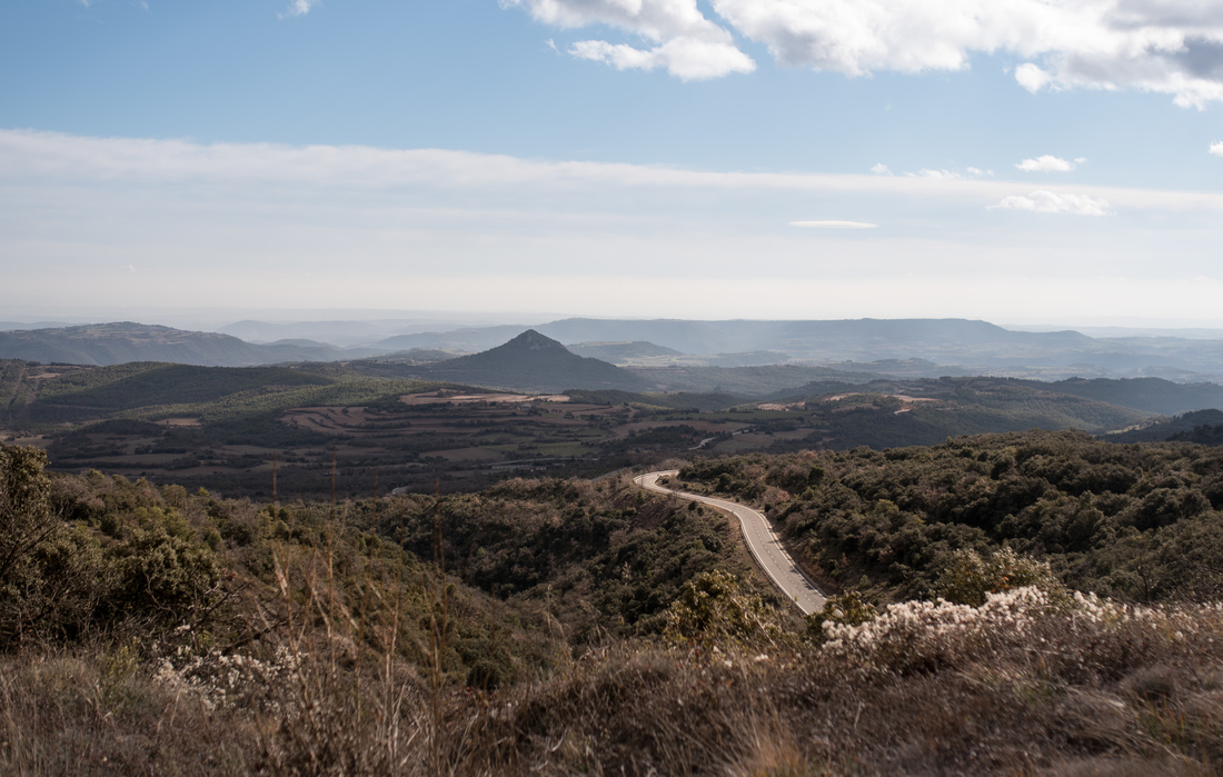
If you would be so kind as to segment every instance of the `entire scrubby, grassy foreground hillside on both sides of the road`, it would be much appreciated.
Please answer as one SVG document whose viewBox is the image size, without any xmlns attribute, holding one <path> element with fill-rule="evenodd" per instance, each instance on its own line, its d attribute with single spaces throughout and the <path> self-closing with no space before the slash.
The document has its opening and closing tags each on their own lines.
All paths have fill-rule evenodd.
<svg viewBox="0 0 1223 777">
<path fill-rule="evenodd" d="M 1223 611 L 1195 578 L 1218 522 L 1190 504 L 1219 475 L 1202 448 L 1032 433 L 685 470 L 769 504 L 791 542 L 804 521 L 863 526 L 838 556 L 852 585 L 807 622 L 724 518 L 626 476 L 260 504 L 43 466 L 0 448 L 5 773 L 1208 775 L 1223 760 Z M 1099 598 L 1068 590 L 1082 573 L 1059 560 L 1062 535 L 1010 531 L 999 551 L 977 524 L 1031 518 L 1016 494 L 1037 483 L 1029 507 L 1075 491 L 1097 505 L 1091 546 L 1118 548 L 1114 569 L 1144 538 L 1192 537 L 1181 549 L 1207 556 L 1164 571 L 1199 582 Z M 926 527 L 965 540 L 926 545 L 906 573 L 949 601 L 887 604 L 912 584 L 871 548 Z"/>
</svg>

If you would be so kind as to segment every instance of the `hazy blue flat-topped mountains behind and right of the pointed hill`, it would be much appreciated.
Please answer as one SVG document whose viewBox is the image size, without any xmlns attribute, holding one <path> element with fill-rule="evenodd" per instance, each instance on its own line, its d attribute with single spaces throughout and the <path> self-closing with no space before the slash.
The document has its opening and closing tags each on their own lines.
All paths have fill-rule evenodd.
<svg viewBox="0 0 1223 777">
<path fill-rule="evenodd" d="M 566 318 L 533 327 L 560 343 L 648 343 L 686 355 L 753 356 L 777 361 L 863 365 L 923 360 L 953 374 L 1003 374 L 1060 379 L 1164 377 L 1223 381 L 1223 340 L 1189 338 L 1090 338 L 1079 332 L 1014 332 L 983 321 L 616 321 Z M 369 344 L 404 350 L 479 351 L 525 332 L 525 325 L 472 327 L 404 334 Z M 612 356 L 610 354 L 608 355 Z M 640 356 L 616 357 L 625 363 Z M 719 363 L 707 360 L 706 365 Z M 730 366 L 735 362 L 720 362 Z M 739 362 L 744 363 L 744 362 Z M 761 363 L 752 360 L 748 363 Z M 656 365 L 660 366 L 660 365 Z"/>
</svg>

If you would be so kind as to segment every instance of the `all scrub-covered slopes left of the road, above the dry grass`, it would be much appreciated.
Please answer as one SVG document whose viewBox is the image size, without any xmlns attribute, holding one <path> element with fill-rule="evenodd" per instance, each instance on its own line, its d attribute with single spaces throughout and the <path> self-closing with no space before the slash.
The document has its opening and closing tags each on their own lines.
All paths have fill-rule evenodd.
<svg viewBox="0 0 1223 777">
<path fill-rule="evenodd" d="M 687 581 L 750 570 L 724 518 L 646 498 L 627 476 L 273 507 L 98 471 L 51 476 L 39 450 L 0 452 L 0 652 L 172 640 L 183 625 L 242 642 L 324 590 L 328 607 L 379 623 L 394 587 L 396 651 L 421 664 L 442 574 L 453 591 L 442 663 L 488 686 L 548 664 L 560 645 L 660 631 Z"/>
</svg>

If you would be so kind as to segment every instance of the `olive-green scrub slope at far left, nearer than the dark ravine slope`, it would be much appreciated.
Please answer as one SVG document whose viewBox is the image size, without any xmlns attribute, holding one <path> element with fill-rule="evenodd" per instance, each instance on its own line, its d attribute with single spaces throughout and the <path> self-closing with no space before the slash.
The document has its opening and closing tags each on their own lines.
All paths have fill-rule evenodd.
<svg viewBox="0 0 1223 777">
<path fill-rule="evenodd" d="M 303 609 L 311 628 L 351 613 L 371 642 L 394 620 L 394 652 L 423 662 L 428 564 L 346 520 L 342 504 L 260 507 L 44 466 L 33 448 L 0 448 L 0 652 L 136 640 L 153 661 L 157 642 L 246 645 Z M 449 675 L 495 685 L 549 661 L 552 638 L 530 614 L 450 590 Z"/>
</svg>

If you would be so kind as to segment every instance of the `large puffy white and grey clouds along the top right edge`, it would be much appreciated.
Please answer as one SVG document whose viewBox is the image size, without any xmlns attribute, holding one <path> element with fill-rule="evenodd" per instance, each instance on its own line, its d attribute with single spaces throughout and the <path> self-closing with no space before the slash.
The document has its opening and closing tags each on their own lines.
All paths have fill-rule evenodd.
<svg viewBox="0 0 1223 777">
<path fill-rule="evenodd" d="M 849 76 L 955 71 L 975 54 L 1003 54 L 1024 60 L 1015 80 L 1033 93 L 1137 89 L 1195 108 L 1223 100 L 1223 5 L 1206 0 L 711 0 L 717 23 L 696 0 L 503 5 L 564 28 L 612 26 L 651 42 L 651 53 L 673 40 L 734 46 L 733 31 L 784 65 Z"/>
</svg>

